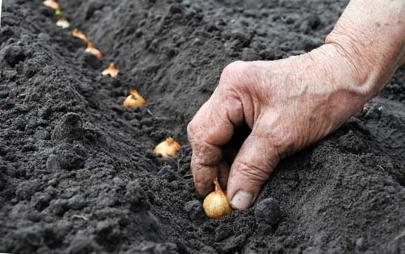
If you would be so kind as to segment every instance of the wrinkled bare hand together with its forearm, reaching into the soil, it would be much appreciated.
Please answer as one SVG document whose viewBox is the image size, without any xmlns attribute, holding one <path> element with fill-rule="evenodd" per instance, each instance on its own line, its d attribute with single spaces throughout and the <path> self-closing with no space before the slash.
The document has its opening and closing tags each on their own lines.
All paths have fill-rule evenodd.
<svg viewBox="0 0 405 254">
<path fill-rule="evenodd" d="M 232 206 L 249 208 L 281 158 L 333 132 L 384 87 L 405 60 L 405 2 L 372 0 L 394 14 L 372 11 L 375 16 L 363 18 L 362 8 L 372 6 L 364 1 L 350 2 L 326 44 L 312 52 L 234 62 L 223 70 L 212 97 L 188 125 L 200 197 L 219 178 Z M 378 21 L 387 16 L 394 16 L 392 25 L 381 31 Z M 352 22 L 359 18 L 361 32 Z M 382 36 L 392 40 L 363 40 Z M 234 146 L 244 125 L 251 132 Z"/>
</svg>

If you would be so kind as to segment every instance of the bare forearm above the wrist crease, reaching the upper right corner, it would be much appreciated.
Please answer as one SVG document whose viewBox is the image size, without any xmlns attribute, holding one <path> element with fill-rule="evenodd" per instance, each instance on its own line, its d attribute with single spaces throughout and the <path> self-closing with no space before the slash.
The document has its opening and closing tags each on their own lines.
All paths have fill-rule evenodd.
<svg viewBox="0 0 405 254">
<path fill-rule="evenodd" d="M 358 76 L 356 86 L 375 96 L 405 63 L 405 1 L 350 1 L 325 42 Z"/>
</svg>

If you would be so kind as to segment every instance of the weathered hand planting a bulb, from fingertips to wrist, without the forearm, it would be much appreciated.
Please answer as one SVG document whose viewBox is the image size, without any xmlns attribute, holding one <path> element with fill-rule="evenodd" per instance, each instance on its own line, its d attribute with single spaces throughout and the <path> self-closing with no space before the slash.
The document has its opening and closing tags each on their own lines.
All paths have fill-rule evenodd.
<svg viewBox="0 0 405 254">
<path fill-rule="evenodd" d="M 198 195 L 214 190 L 218 178 L 232 207 L 249 208 L 281 158 L 333 132 L 375 93 L 362 86 L 366 76 L 333 44 L 273 62 L 229 64 L 188 125 Z M 240 149 L 229 146 L 243 125 L 251 133 Z"/>
</svg>

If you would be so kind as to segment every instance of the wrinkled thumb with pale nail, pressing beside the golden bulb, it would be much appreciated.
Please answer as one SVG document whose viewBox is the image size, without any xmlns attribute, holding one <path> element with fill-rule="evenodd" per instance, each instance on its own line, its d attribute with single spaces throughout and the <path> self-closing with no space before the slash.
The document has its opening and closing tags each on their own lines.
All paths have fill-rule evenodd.
<svg viewBox="0 0 405 254">
<path fill-rule="evenodd" d="M 244 141 L 228 178 L 227 197 L 234 209 L 251 206 L 279 160 L 268 137 L 251 134 Z"/>
</svg>

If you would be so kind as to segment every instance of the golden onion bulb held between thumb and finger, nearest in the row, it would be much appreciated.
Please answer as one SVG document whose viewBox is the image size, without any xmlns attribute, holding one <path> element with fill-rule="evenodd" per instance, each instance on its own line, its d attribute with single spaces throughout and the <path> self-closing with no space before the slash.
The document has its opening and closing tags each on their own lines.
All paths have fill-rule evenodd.
<svg viewBox="0 0 405 254">
<path fill-rule="evenodd" d="M 221 189 L 218 180 L 214 180 L 215 191 L 205 197 L 203 202 L 204 212 L 207 217 L 216 219 L 232 212 L 231 204 L 228 202 L 227 194 Z"/>
</svg>

